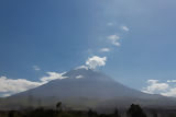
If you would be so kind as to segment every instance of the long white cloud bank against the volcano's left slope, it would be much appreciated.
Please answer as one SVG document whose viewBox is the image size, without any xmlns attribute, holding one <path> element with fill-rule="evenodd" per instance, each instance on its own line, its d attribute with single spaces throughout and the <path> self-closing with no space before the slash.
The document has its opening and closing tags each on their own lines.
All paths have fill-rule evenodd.
<svg viewBox="0 0 176 117">
<path fill-rule="evenodd" d="M 15 93 L 20 93 L 30 89 L 34 89 L 42 84 L 45 84 L 52 80 L 66 79 L 63 77 L 65 73 L 46 72 L 48 75 L 40 79 L 38 82 L 29 81 L 25 79 L 8 79 L 7 77 L 0 77 L 0 94 L 1 96 L 10 96 Z"/>
</svg>

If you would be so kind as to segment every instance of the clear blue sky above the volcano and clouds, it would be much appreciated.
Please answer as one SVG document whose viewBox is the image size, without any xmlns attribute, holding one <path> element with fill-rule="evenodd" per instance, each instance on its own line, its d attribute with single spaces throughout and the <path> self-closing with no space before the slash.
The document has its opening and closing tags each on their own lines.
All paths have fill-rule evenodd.
<svg viewBox="0 0 176 117">
<path fill-rule="evenodd" d="M 168 84 L 176 79 L 175 4 L 175 0 L 0 1 L 0 77 L 35 82 L 46 72 L 68 71 L 98 56 L 107 58 L 99 70 L 130 87 Z M 118 37 L 110 40 L 112 35 Z"/>
</svg>

